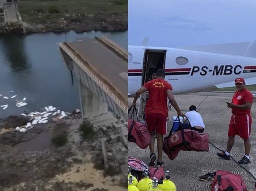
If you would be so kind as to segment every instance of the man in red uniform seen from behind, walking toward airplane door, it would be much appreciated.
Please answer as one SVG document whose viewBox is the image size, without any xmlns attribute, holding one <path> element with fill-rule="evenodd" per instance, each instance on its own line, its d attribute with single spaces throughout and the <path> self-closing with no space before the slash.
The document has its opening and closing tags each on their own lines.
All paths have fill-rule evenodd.
<svg viewBox="0 0 256 191">
<path fill-rule="evenodd" d="M 141 88 L 137 90 L 132 105 L 136 105 L 136 101 L 141 93 L 149 91 L 150 96 L 145 108 L 147 128 L 151 134 L 151 140 L 149 143 L 149 166 L 154 166 L 154 161 L 157 159 L 154 153 L 154 133 L 157 130 L 157 166 L 159 167 L 164 165 L 164 162 L 162 161 L 162 153 L 163 135 L 167 134 L 167 97 L 171 101 L 171 105 L 174 107 L 174 109 L 176 109 L 178 116 L 184 116 L 184 114 L 181 112 L 178 104 L 176 103 L 176 100 L 174 99 L 171 85 L 164 80 L 164 70 L 158 69 L 156 75 L 157 79 L 145 83 Z"/>
</svg>

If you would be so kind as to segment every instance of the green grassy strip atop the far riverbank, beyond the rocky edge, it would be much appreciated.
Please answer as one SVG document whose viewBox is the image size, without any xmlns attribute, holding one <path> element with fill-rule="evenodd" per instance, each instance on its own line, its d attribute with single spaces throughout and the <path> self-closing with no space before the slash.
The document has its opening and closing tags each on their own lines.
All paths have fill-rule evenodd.
<svg viewBox="0 0 256 191">
<path fill-rule="evenodd" d="M 128 15 L 128 0 L 20 0 L 18 3 L 23 22 L 51 24 L 67 15 Z M 69 17 L 69 16 L 67 16 Z"/>
</svg>

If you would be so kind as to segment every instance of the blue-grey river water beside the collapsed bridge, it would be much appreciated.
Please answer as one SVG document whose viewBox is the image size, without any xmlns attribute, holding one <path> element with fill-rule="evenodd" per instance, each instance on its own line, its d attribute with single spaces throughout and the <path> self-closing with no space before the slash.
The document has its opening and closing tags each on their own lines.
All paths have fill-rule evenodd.
<svg viewBox="0 0 256 191">
<path fill-rule="evenodd" d="M 127 50 L 127 34 L 127 31 L 80 34 L 70 31 L 0 36 L 0 106 L 8 105 L 6 109 L 0 107 L 0 118 L 40 112 L 51 105 L 67 112 L 80 108 L 78 87 L 76 83 L 72 84 L 58 43 L 106 36 Z M 27 105 L 17 107 L 16 101 L 23 98 Z"/>
</svg>

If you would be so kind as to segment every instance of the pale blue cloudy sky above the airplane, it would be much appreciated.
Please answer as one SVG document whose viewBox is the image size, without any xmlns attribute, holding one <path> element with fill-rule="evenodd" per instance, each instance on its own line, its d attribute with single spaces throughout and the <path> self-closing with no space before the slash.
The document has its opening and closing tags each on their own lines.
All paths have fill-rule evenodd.
<svg viewBox="0 0 256 191">
<path fill-rule="evenodd" d="M 182 47 L 253 41 L 255 0 L 129 0 L 128 44 Z"/>
</svg>

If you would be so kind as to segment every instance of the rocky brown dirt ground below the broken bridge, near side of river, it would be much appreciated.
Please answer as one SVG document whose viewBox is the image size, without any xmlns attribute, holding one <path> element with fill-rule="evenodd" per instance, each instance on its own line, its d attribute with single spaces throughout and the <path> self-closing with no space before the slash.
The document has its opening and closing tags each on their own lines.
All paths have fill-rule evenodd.
<svg viewBox="0 0 256 191">
<path fill-rule="evenodd" d="M 118 121 L 125 128 L 124 121 Z M 80 117 L 68 116 L 58 122 L 38 124 L 26 132 L 7 128 L 12 123 L 0 121 L 0 190 L 3 191 L 124 191 L 127 190 L 127 155 L 118 156 L 124 147 L 119 140 L 109 141 L 106 148 L 109 170 L 104 170 L 103 155 L 98 138 L 109 137 L 114 128 L 84 140 L 79 126 Z M 10 121 L 10 120 L 9 120 Z M 13 118 L 12 118 L 13 121 Z M 16 118 L 17 121 L 17 118 Z M 24 122 L 23 122 L 24 123 Z M 126 127 L 127 128 L 127 127 Z M 67 133 L 68 142 L 57 147 L 51 140 L 58 133 Z M 119 132 L 116 130 L 116 135 Z M 115 148 L 113 148 L 113 145 Z M 127 153 L 127 151 L 125 151 Z M 115 163 L 118 160 L 117 163 Z M 111 163 L 114 165 L 111 166 Z M 124 175 L 123 175 L 124 174 Z"/>
</svg>

